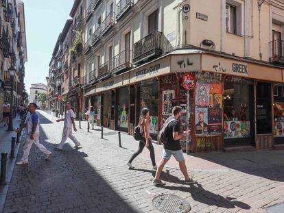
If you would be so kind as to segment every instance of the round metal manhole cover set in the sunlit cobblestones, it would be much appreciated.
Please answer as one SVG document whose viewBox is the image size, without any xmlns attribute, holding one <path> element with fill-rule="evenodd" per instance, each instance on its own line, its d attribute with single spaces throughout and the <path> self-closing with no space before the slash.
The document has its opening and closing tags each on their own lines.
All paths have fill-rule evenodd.
<svg viewBox="0 0 284 213">
<path fill-rule="evenodd" d="M 187 213 L 191 210 L 189 202 L 176 195 L 159 195 L 154 197 L 152 205 L 163 213 Z"/>
</svg>

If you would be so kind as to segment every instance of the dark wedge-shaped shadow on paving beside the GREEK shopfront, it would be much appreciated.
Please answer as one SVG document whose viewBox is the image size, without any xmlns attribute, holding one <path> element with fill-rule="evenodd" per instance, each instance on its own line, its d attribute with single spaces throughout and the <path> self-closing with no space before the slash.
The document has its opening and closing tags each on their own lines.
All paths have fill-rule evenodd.
<svg viewBox="0 0 284 213">
<path fill-rule="evenodd" d="M 191 153 L 191 155 L 250 175 L 284 181 L 284 151 Z"/>
</svg>

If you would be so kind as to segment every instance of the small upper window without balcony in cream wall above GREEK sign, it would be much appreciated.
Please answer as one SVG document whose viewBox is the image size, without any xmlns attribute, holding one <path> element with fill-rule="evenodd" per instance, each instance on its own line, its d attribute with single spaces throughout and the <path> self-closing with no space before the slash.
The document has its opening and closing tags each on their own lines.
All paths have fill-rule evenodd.
<svg viewBox="0 0 284 213">
<path fill-rule="evenodd" d="M 226 4 L 226 32 L 237 34 L 237 8 Z"/>
</svg>

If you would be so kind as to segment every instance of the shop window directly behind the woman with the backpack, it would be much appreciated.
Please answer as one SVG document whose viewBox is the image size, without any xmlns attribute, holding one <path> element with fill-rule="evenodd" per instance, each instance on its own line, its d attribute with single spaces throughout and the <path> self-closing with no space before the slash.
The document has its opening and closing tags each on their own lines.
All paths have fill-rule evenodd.
<svg viewBox="0 0 284 213">
<path fill-rule="evenodd" d="M 158 133 L 158 82 L 155 80 L 141 82 L 138 86 L 139 90 L 139 115 L 143 108 L 150 111 L 150 133 Z"/>
</svg>

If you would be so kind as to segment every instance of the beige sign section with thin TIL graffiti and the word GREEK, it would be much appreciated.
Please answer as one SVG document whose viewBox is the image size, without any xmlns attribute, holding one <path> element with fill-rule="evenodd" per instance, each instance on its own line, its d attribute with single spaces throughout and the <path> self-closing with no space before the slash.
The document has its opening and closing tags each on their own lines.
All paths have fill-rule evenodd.
<svg viewBox="0 0 284 213">
<path fill-rule="evenodd" d="M 202 70 L 214 73 L 248 76 L 248 64 L 213 55 L 202 55 Z"/>
</svg>

